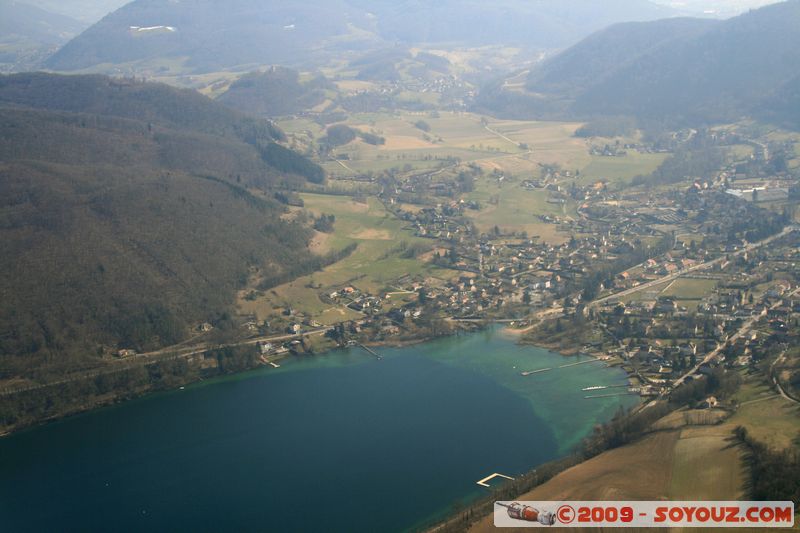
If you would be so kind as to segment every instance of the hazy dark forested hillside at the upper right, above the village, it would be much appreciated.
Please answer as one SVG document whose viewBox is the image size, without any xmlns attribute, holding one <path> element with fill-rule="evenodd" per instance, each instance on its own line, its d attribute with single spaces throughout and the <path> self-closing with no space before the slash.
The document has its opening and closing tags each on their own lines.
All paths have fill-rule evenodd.
<svg viewBox="0 0 800 533">
<path fill-rule="evenodd" d="M 800 127 L 798 27 L 800 0 L 723 22 L 620 24 L 533 70 L 525 91 L 497 84 L 479 104 L 504 116 L 627 115 L 671 127 L 756 117 Z"/>
</svg>

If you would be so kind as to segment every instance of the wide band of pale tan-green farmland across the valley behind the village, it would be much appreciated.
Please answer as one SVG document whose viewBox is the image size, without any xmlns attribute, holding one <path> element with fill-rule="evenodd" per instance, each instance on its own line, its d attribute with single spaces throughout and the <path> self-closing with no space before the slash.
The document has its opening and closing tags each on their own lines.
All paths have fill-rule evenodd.
<svg viewBox="0 0 800 533">
<path fill-rule="evenodd" d="M 429 126 L 428 131 L 415 126 L 420 121 Z M 334 177 L 391 168 L 434 168 L 448 158 L 458 158 L 518 177 L 538 177 L 539 165 L 548 164 L 577 170 L 585 180 L 620 181 L 652 172 L 665 158 L 664 154 L 638 153 L 591 156 L 587 141 L 574 136 L 578 123 L 495 120 L 455 112 L 361 113 L 344 123 L 380 135 L 386 142 L 373 146 L 359 140 L 336 150 L 337 157 L 347 158 L 351 170 L 328 161 L 324 166 Z M 305 118 L 279 121 L 279 125 L 306 142 L 325 135 L 322 126 Z"/>
</svg>

